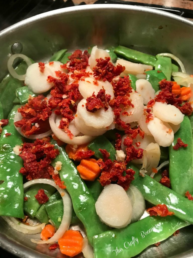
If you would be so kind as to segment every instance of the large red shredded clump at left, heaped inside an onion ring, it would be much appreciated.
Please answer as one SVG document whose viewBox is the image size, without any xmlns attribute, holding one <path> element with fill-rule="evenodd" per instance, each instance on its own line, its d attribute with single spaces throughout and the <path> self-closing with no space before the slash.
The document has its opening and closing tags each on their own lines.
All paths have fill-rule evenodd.
<svg viewBox="0 0 193 258">
<path fill-rule="evenodd" d="M 40 134 L 50 129 L 48 118 L 51 115 L 51 110 L 43 95 L 31 96 L 25 106 L 18 108 L 18 112 L 23 118 L 14 124 L 16 127 L 21 127 L 24 135 Z"/>
</svg>

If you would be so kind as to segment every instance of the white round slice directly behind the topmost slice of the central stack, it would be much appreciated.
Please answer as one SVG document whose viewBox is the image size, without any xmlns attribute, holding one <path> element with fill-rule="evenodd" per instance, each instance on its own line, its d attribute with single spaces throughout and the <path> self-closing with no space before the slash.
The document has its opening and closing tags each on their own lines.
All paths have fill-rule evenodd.
<svg viewBox="0 0 193 258">
<path fill-rule="evenodd" d="M 79 86 L 78 86 L 78 90 L 80 91 L 81 95 L 83 96 L 84 99 L 92 96 L 93 92 L 95 95 L 97 95 L 97 93 L 102 89 L 102 87 L 104 87 L 105 89 L 105 93 L 106 94 L 110 94 L 111 95 L 111 99 L 114 98 L 114 92 L 113 92 L 113 87 L 110 84 L 110 82 L 106 81 L 97 81 L 98 82 L 98 86 L 95 85 L 94 82 L 94 78 L 92 77 L 87 77 L 84 78 L 84 81 L 79 81 Z"/>
</svg>

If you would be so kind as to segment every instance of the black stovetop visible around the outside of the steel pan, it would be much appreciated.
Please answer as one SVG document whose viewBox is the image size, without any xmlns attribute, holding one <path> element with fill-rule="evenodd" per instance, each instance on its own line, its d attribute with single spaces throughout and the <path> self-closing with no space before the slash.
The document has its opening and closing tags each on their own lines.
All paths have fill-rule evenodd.
<svg viewBox="0 0 193 258">
<path fill-rule="evenodd" d="M 143 0 L 141 1 L 143 2 Z M 159 10 L 164 10 L 171 12 L 177 15 L 180 15 L 185 18 L 193 19 L 193 11 L 188 9 L 181 8 L 172 8 L 165 7 L 162 5 L 155 4 L 143 4 L 135 3 L 132 1 L 120 1 L 120 0 L 98 0 L 95 4 L 130 4 L 130 5 L 141 5 L 147 6 Z M 80 3 L 79 5 L 84 5 L 85 2 Z M 13 25 L 16 22 L 29 18 L 31 16 L 48 12 L 51 10 L 56 10 L 64 7 L 74 6 L 72 0 L 8 0 L 0 1 L 0 31 L 7 28 L 8 26 Z M 0 248 L 0 257 L 1 258 L 16 258 L 16 256 L 8 253 L 7 251 Z"/>
</svg>

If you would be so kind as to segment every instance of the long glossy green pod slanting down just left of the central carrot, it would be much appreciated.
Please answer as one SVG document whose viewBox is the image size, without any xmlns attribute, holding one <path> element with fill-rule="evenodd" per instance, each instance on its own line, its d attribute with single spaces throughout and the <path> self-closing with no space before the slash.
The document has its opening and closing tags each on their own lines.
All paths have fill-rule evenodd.
<svg viewBox="0 0 193 258">
<path fill-rule="evenodd" d="M 57 161 L 62 162 L 62 169 L 59 171 L 60 178 L 65 182 L 66 190 L 72 198 L 74 211 L 78 219 L 83 223 L 87 238 L 92 244 L 92 237 L 108 230 L 109 227 L 102 223 L 96 214 L 94 198 L 85 182 L 81 179 L 76 166 L 68 158 L 65 149 L 59 147 L 54 140 L 52 140 L 51 143 L 54 144 L 60 152 L 52 161 L 52 166 L 55 166 L 55 162 Z"/>
</svg>

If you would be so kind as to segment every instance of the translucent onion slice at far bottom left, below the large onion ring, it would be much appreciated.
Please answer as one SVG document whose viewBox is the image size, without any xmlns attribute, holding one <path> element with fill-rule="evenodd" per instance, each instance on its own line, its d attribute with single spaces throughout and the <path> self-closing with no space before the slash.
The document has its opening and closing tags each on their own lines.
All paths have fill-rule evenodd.
<svg viewBox="0 0 193 258">
<path fill-rule="evenodd" d="M 21 221 L 17 220 L 14 217 L 2 217 L 11 228 L 22 232 L 24 234 L 37 234 L 42 231 L 42 229 L 45 227 L 46 223 L 39 224 L 37 226 L 30 226 L 27 224 L 23 224 Z"/>
</svg>

